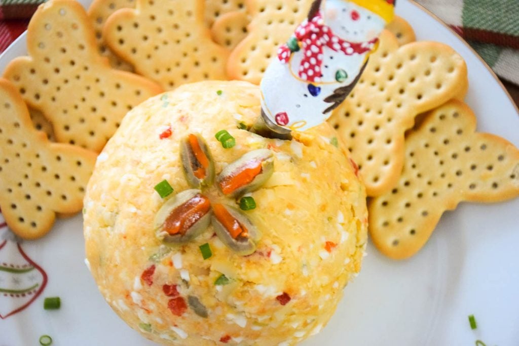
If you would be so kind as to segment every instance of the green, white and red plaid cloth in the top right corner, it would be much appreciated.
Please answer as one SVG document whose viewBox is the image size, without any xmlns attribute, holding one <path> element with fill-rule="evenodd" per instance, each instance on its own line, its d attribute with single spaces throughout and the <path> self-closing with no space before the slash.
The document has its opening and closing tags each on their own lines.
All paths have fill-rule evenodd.
<svg viewBox="0 0 519 346">
<path fill-rule="evenodd" d="M 494 69 L 519 85 L 519 0 L 417 0 L 449 24 Z"/>
</svg>

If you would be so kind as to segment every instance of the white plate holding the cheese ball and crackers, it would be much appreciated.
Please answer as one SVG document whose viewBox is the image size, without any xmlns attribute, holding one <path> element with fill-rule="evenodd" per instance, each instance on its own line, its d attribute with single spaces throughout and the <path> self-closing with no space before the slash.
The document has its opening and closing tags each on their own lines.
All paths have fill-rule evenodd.
<svg viewBox="0 0 519 346">
<path fill-rule="evenodd" d="M 479 131 L 519 146 L 518 111 L 480 57 L 416 4 L 399 0 L 397 12 L 413 25 L 418 39 L 444 42 L 465 58 L 467 103 L 477 114 Z M 0 71 L 23 54 L 25 35 L 0 56 Z M 427 246 L 404 262 L 369 246 L 361 275 L 347 287 L 333 319 L 304 345 L 473 345 L 477 339 L 489 346 L 518 344 L 517 211 L 519 199 L 462 204 L 446 213 Z M 48 283 L 28 308 L 0 319 L 0 345 L 36 345 L 43 334 L 52 336 L 53 345 L 151 345 L 98 292 L 84 264 L 81 221 L 81 215 L 59 220 L 45 238 L 23 242 L 23 250 L 47 272 Z M 0 249 L 0 265 L 8 249 L 15 251 L 9 261 L 21 261 L 13 245 Z M 45 311 L 46 296 L 60 296 L 62 308 Z M 2 302 L 0 295 L 0 314 Z M 469 327 L 470 314 L 477 319 L 475 331 Z"/>
</svg>

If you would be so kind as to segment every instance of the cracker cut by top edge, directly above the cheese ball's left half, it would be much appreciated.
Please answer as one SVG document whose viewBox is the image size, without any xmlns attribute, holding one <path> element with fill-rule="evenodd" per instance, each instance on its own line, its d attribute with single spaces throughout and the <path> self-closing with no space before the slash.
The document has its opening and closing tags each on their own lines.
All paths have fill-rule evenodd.
<svg viewBox="0 0 519 346">
<path fill-rule="evenodd" d="M 106 21 L 108 46 L 164 89 L 204 79 L 227 79 L 229 52 L 211 40 L 203 0 L 137 0 Z"/>
</svg>

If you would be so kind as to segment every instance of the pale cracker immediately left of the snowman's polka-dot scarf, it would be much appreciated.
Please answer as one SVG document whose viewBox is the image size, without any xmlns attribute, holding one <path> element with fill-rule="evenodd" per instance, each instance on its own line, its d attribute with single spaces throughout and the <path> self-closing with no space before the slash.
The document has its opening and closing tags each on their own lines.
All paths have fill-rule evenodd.
<svg viewBox="0 0 519 346">
<path fill-rule="evenodd" d="M 278 47 L 308 16 L 313 0 L 249 0 L 252 18 L 249 34 L 231 52 L 227 62 L 229 79 L 259 84 Z"/>
</svg>

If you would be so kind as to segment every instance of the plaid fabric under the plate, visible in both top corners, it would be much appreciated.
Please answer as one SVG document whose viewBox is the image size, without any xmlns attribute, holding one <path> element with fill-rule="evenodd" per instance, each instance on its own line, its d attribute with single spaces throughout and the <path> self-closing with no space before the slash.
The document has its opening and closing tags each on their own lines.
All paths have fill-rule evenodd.
<svg viewBox="0 0 519 346">
<path fill-rule="evenodd" d="M 0 53 L 45 0 L 0 0 Z M 465 38 L 502 78 L 519 84 L 519 0 L 417 0 Z"/>
</svg>

